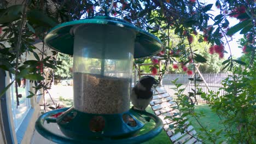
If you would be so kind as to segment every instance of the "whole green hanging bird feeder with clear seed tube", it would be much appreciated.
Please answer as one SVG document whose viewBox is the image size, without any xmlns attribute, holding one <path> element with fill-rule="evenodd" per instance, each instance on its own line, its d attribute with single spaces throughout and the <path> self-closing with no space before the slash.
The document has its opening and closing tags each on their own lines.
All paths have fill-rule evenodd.
<svg viewBox="0 0 256 144">
<path fill-rule="evenodd" d="M 44 113 L 37 131 L 57 143 L 141 143 L 158 135 L 162 122 L 146 111 L 130 109 L 133 58 L 156 55 L 162 43 L 154 35 L 109 16 L 62 23 L 45 44 L 73 55 L 73 107 Z M 51 117 L 63 112 L 59 117 Z M 144 134 L 139 130 L 155 121 Z M 57 135 L 44 122 L 57 123 Z"/>
</svg>

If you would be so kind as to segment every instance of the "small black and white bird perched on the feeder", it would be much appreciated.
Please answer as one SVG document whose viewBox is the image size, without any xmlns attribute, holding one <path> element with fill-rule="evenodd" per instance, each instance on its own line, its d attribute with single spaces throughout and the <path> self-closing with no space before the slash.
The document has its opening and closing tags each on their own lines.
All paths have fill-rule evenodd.
<svg viewBox="0 0 256 144">
<path fill-rule="evenodd" d="M 158 84 L 158 81 L 152 76 L 143 76 L 132 88 L 131 102 L 133 109 L 145 110 L 153 99 L 152 86 Z"/>
</svg>

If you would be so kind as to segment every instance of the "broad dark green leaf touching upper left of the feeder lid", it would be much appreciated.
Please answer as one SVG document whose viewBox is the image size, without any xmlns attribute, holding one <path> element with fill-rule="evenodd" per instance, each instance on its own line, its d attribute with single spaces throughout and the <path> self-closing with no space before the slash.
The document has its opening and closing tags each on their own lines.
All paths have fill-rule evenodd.
<svg viewBox="0 0 256 144">
<path fill-rule="evenodd" d="M 57 23 L 51 19 L 51 17 L 42 13 L 37 9 L 33 9 L 27 12 L 27 19 L 32 23 L 36 23 L 39 26 L 54 27 Z"/>
</svg>

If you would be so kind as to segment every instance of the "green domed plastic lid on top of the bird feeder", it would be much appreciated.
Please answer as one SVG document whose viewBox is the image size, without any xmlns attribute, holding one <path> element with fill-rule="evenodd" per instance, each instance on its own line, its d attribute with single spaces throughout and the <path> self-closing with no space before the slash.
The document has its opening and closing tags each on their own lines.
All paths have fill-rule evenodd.
<svg viewBox="0 0 256 144">
<path fill-rule="evenodd" d="M 45 44 L 56 51 L 73 55 L 73 27 L 91 24 L 114 25 L 136 32 L 134 58 L 156 55 L 162 50 L 163 46 L 161 41 L 153 34 L 150 34 L 141 28 L 135 27 L 129 22 L 109 16 L 95 16 L 89 19 L 62 23 L 51 29 L 51 31 L 46 35 L 44 39 Z"/>
</svg>

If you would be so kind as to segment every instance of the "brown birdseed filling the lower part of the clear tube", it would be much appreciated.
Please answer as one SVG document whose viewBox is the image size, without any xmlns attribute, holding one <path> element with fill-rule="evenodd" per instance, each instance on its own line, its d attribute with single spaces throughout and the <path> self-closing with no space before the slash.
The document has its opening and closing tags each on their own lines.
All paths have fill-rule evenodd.
<svg viewBox="0 0 256 144">
<path fill-rule="evenodd" d="M 74 109 L 86 113 L 123 113 L 130 107 L 131 79 L 74 73 Z"/>
</svg>

